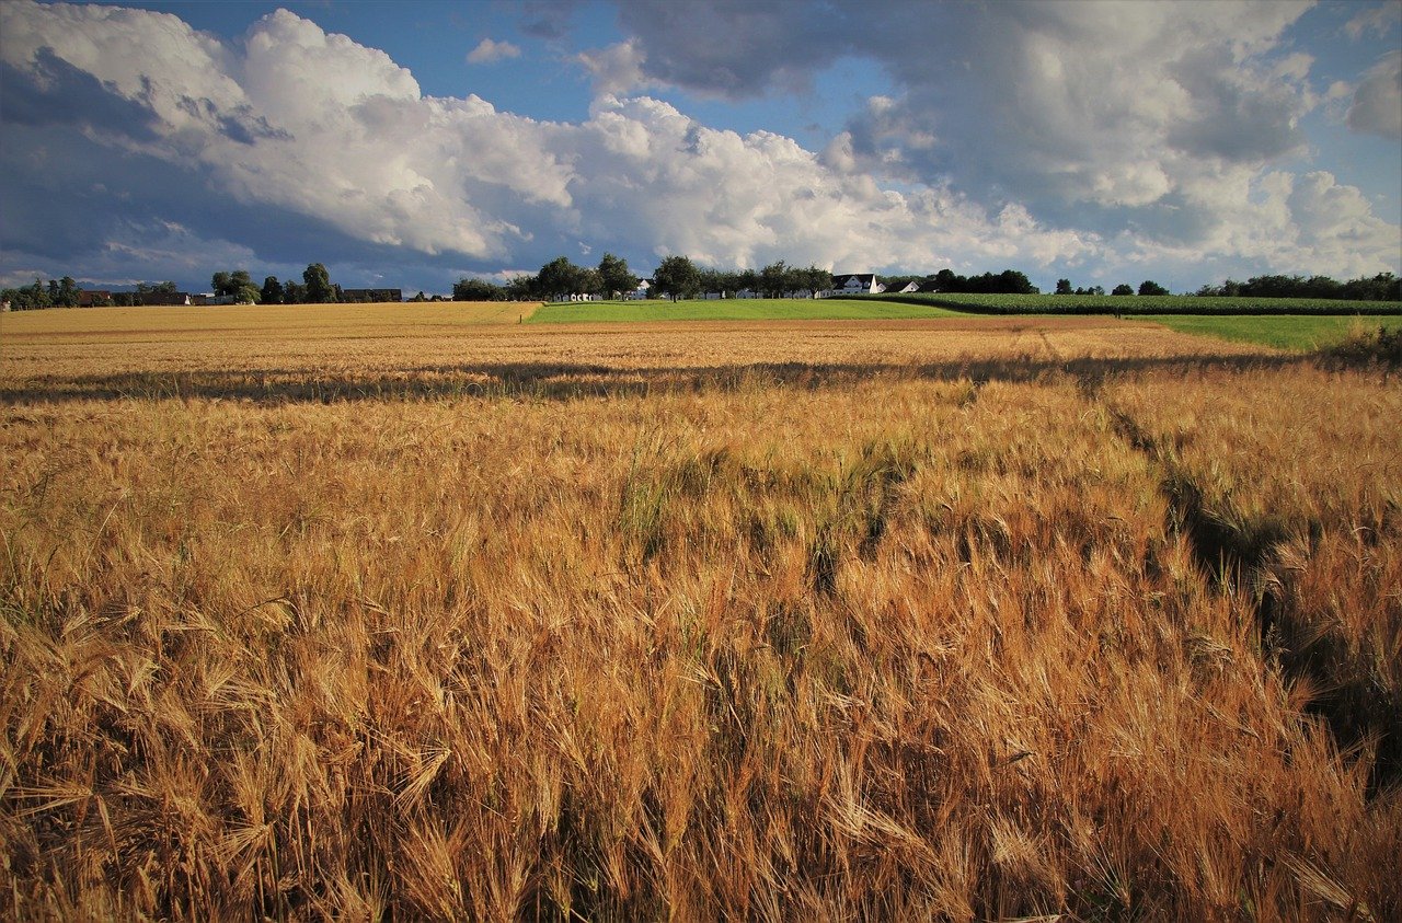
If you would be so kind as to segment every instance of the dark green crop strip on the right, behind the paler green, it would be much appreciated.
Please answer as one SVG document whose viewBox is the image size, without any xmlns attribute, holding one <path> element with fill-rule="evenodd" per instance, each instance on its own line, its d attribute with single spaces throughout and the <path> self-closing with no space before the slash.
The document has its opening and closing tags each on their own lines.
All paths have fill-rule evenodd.
<svg viewBox="0 0 1402 923">
<path fill-rule="evenodd" d="M 1342 301 L 1335 298 L 1209 298 L 1197 296 L 1012 296 L 917 293 L 866 296 L 892 304 L 930 304 L 973 314 L 1402 314 L 1402 301 Z"/>
</svg>

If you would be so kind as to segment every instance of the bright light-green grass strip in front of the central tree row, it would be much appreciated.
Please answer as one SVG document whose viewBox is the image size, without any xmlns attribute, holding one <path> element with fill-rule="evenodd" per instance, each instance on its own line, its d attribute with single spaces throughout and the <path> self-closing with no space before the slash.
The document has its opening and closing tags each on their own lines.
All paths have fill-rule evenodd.
<svg viewBox="0 0 1402 923">
<path fill-rule="evenodd" d="M 851 298 L 726 298 L 723 301 L 587 301 L 547 304 L 527 324 L 645 321 L 880 321 L 958 317 L 934 304 Z"/>
</svg>

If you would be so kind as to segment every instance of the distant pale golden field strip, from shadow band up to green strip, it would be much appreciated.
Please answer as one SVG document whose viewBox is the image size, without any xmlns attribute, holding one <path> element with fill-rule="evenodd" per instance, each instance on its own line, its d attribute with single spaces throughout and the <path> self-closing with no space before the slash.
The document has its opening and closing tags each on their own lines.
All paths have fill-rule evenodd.
<svg viewBox="0 0 1402 923">
<path fill-rule="evenodd" d="M 481 311 L 498 310 L 440 304 L 6 314 L 0 398 L 380 398 L 481 394 L 513 389 L 523 380 L 550 387 L 665 384 L 792 364 L 941 366 L 958 374 L 987 363 L 1047 370 L 1077 359 L 1154 363 L 1270 353 L 1102 318 L 477 324 Z"/>
</svg>

